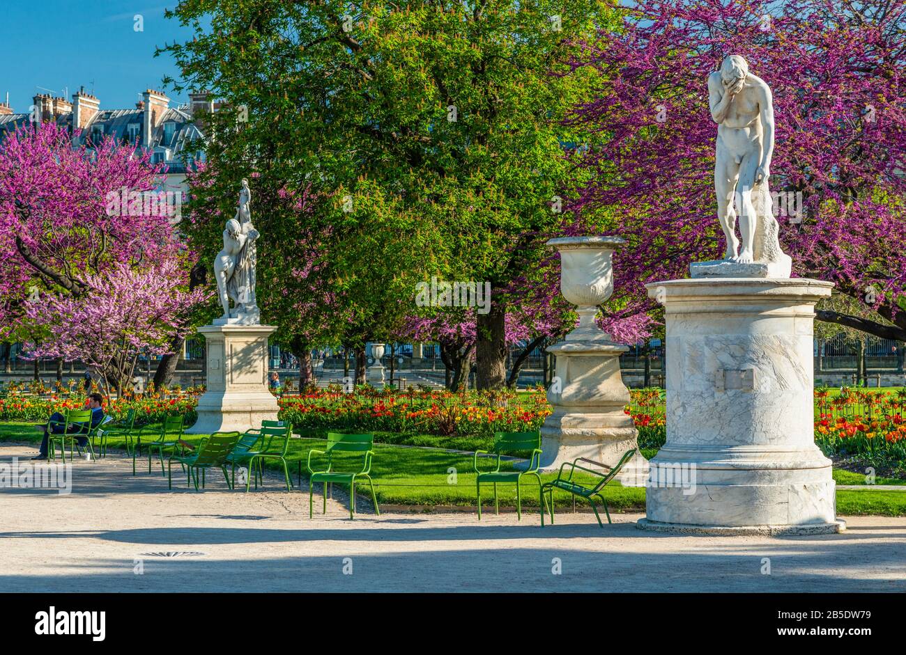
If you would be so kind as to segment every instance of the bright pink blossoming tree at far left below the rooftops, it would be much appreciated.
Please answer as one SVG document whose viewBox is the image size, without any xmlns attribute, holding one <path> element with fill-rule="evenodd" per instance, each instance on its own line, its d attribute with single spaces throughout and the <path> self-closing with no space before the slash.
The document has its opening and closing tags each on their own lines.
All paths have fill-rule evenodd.
<svg viewBox="0 0 906 655">
<path fill-rule="evenodd" d="M 153 191 L 162 167 L 106 138 L 73 146 L 55 123 L 15 130 L 0 146 L 0 324 L 21 327 L 24 300 L 44 292 L 80 298 L 83 276 L 111 262 L 161 261 L 181 246 L 170 205 L 111 205 Z M 146 211 L 149 210 L 149 211 Z"/>
</svg>

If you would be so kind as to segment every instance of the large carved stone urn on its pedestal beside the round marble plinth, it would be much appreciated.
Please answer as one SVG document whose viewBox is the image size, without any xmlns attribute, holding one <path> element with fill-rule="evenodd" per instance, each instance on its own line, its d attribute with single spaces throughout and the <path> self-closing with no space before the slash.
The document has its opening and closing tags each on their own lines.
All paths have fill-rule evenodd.
<svg viewBox="0 0 906 655">
<path fill-rule="evenodd" d="M 638 448 L 638 432 L 623 411 L 630 397 L 620 374 L 620 356 L 629 348 L 615 343 L 594 322 L 598 306 L 613 292 L 612 254 L 622 243 L 613 236 L 547 242 L 560 252 L 560 292 L 576 306 L 579 325 L 563 343 L 548 348 L 556 356 L 556 372 L 547 390 L 554 412 L 541 428 L 545 470 L 578 457 L 613 466 L 623 453 Z M 641 487 L 647 477 L 647 462 L 637 453 L 619 479 L 623 485 Z"/>
</svg>

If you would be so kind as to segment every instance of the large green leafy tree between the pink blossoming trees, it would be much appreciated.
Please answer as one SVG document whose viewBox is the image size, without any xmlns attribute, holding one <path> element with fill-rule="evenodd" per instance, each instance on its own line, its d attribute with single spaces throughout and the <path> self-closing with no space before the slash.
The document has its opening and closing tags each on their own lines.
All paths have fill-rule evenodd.
<svg viewBox="0 0 906 655">
<path fill-rule="evenodd" d="M 268 188 L 325 199 L 305 226 L 330 253 L 318 274 L 342 308 L 342 343 L 361 348 L 416 313 L 415 280 L 490 282 L 476 346 L 487 388 L 506 384 L 519 281 L 573 223 L 561 208 L 581 179 L 564 148 L 586 139 L 562 119 L 598 80 L 564 62 L 611 12 L 593 0 L 183 0 L 169 15 L 195 38 L 164 50 L 178 89 L 230 108 L 212 117 L 218 176 L 236 185 L 254 169 Z M 259 195 L 259 215 L 272 206 Z M 259 262 L 276 273 L 265 242 Z"/>
</svg>

